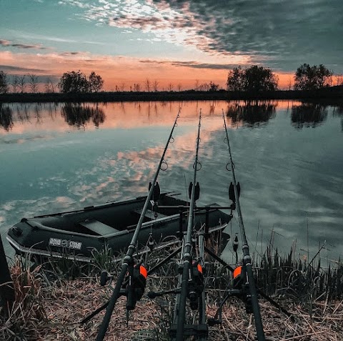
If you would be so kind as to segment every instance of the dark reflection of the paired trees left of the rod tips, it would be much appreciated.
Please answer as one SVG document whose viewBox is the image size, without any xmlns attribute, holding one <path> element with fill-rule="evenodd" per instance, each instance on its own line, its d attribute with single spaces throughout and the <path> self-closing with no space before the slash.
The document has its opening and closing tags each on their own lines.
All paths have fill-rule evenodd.
<svg viewBox="0 0 343 341">
<path fill-rule="evenodd" d="M 106 115 L 98 105 L 95 108 L 84 104 L 67 103 L 61 108 L 61 116 L 64 117 L 69 126 L 76 128 L 84 127 L 90 120 L 94 123 L 95 127 L 103 124 Z"/>
</svg>

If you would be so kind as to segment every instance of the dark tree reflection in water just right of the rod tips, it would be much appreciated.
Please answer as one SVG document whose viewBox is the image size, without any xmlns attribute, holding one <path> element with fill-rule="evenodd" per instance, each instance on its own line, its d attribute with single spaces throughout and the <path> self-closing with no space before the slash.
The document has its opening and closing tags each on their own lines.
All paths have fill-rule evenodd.
<svg viewBox="0 0 343 341">
<path fill-rule="evenodd" d="M 257 127 L 265 124 L 275 117 L 277 103 L 274 102 L 236 102 L 227 107 L 227 117 L 231 118 L 232 124 L 237 126 L 239 123 L 248 127 Z"/>
</svg>

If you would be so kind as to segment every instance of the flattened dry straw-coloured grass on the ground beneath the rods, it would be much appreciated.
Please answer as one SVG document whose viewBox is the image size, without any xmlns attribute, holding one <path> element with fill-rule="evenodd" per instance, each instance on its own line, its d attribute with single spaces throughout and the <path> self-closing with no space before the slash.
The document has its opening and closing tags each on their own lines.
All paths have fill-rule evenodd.
<svg viewBox="0 0 343 341">
<path fill-rule="evenodd" d="M 25 308 L 18 305 L 14 315 L 1 325 L 0 340 L 95 340 L 104 312 L 85 325 L 78 322 L 103 305 L 109 295 L 109 287 L 100 287 L 94 279 L 59 282 L 58 286 L 44 289 L 40 287 L 30 304 L 26 303 Z M 126 325 L 125 302 L 119 299 L 104 340 L 168 340 L 168 323 L 165 321 L 168 312 L 166 315 L 162 313 L 163 303 L 168 305 L 166 300 L 151 301 L 143 298 L 130 313 Z M 314 301 L 311 314 L 305 305 L 289 301 L 282 302 L 282 305 L 294 315 L 294 321 L 268 302 L 260 300 L 267 340 L 342 340 L 343 301 Z M 164 311 L 170 312 L 170 308 L 171 305 L 169 309 L 164 307 Z M 216 305 L 210 303 L 207 315 L 214 316 L 216 310 Z M 41 311 L 44 311 L 43 315 Z M 21 325 L 21 333 L 18 330 L 11 333 L 9 326 L 14 321 L 16 328 Z M 247 315 L 242 302 L 235 299 L 227 302 L 222 325 L 209 327 L 209 340 L 255 340 L 252 315 Z"/>
</svg>

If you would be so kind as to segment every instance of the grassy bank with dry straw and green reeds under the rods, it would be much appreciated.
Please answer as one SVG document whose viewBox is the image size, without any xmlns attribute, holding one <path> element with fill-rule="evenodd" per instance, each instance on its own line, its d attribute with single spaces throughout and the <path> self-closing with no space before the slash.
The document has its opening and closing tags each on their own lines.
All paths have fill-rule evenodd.
<svg viewBox="0 0 343 341">
<path fill-rule="evenodd" d="M 320 253 L 312 260 L 294 255 L 294 249 L 281 257 L 268 247 L 255 258 L 257 286 L 292 315 L 260 297 L 267 340 L 341 340 L 342 263 L 324 269 Z M 153 267 L 164 256 L 154 251 L 143 260 Z M 146 293 L 175 286 L 177 258 L 149 276 L 145 295 L 127 320 L 125 301 L 119 300 L 104 340 L 169 340 L 174 295 L 149 300 Z M 9 317 L 1 320 L 0 340 L 95 340 L 104 312 L 84 325 L 79 321 L 111 296 L 111 287 L 99 286 L 100 270 L 109 270 L 116 277 L 119 267 L 119 262 L 112 262 L 109 250 L 95 254 L 92 265 L 62 259 L 41 267 L 16 259 L 11 266 L 16 300 Z M 227 267 L 208 259 L 208 317 L 214 317 L 231 281 Z M 241 301 L 231 299 L 224 305 L 222 325 L 209 327 L 209 340 L 254 340 L 254 333 L 252 315 L 247 315 Z"/>
</svg>

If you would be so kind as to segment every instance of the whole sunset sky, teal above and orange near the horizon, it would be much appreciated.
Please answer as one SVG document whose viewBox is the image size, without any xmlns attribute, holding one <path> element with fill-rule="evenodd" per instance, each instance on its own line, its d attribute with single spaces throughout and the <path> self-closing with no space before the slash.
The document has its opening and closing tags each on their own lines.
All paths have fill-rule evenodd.
<svg viewBox="0 0 343 341">
<path fill-rule="evenodd" d="M 58 81 L 91 71 L 104 89 L 224 87 L 236 66 L 343 74 L 343 0 L 0 0 L 0 71 Z"/>
</svg>

